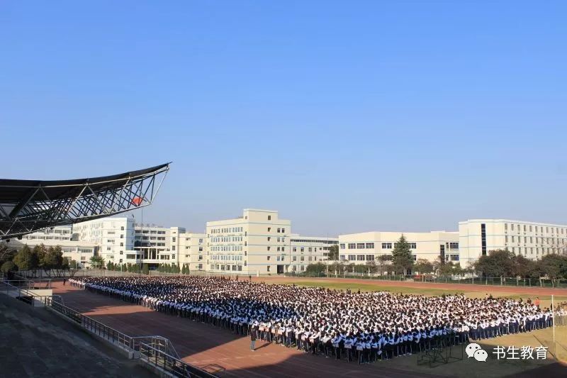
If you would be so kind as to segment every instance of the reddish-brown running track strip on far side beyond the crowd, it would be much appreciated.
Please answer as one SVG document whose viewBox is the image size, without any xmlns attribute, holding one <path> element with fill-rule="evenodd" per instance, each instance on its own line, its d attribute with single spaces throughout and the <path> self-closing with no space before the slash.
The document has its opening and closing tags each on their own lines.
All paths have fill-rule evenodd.
<svg viewBox="0 0 567 378">
<path fill-rule="evenodd" d="M 550 287 L 515 287 L 515 286 L 496 286 L 496 285 L 476 285 L 476 284 L 440 284 L 430 282 L 408 282 L 408 281 L 386 281 L 382 279 L 352 279 L 352 278 L 296 278 L 296 277 L 252 277 L 252 281 L 266 282 L 268 284 L 292 284 L 301 280 L 311 282 L 335 282 L 340 284 L 352 284 L 352 289 L 356 289 L 357 284 L 374 284 L 380 287 L 412 287 L 423 289 L 442 289 L 454 292 L 463 291 L 483 291 L 489 294 L 528 294 L 532 296 L 556 295 L 567 296 L 567 289 L 554 289 Z"/>
</svg>

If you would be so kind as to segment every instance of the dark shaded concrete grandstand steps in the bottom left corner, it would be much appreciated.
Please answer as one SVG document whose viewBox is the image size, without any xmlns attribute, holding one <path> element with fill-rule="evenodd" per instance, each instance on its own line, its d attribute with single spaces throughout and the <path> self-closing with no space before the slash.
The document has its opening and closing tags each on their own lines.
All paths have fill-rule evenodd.
<svg viewBox="0 0 567 378">
<path fill-rule="evenodd" d="M 0 377 L 155 377 L 45 308 L 0 295 Z"/>
</svg>

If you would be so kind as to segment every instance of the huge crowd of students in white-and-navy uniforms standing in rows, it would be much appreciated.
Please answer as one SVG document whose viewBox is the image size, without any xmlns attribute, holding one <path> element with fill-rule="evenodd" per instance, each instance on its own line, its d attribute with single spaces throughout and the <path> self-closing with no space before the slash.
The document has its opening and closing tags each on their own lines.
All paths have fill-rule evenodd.
<svg viewBox="0 0 567 378">
<path fill-rule="evenodd" d="M 552 311 L 513 299 L 353 293 L 222 277 L 82 277 L 69 283 L 326 357 L 359 363 L 551 326 Z M 566 316 L 563 308 L 557 311 Z"/>
</svg>

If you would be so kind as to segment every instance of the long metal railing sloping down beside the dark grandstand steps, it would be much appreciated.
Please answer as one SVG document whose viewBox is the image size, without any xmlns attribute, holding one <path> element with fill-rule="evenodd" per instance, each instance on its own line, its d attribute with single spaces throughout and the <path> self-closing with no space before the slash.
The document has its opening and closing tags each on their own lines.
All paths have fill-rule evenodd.
<svg viewBox="0 0 567 378">
<path fill-rule="evenodd" d="M 159 335 L 132 337 L 106 326 L 89 316 L 85 316 L 73 308 L 53 301 L 50 297 L 45 297 L 44 303 L 45 306 L 66 316 L 86 330 L 89 330 L 89 332 L 98 335 L 113 345 L 117 345 L 123 350 L 132 352 L 133 357 L 138 357 L 140 360 L 159 369 L 163 369 L 165 372 L 173 374 L 175 377 L 216 377 L 214 374 L 210 374 L 198 367 L 189 365 L 187 362 L 181 361 L 172 342 L 167 338 Z"/>
</svg>

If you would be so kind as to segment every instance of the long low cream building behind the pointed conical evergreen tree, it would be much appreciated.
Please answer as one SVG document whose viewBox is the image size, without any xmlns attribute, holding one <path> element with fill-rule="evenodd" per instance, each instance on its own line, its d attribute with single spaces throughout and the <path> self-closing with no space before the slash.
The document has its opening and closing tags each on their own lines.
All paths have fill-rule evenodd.
<svg viewBox="0 0 567 378">
<path fill-rule="evenodd" d="M 365 264 L 375 261 L 378 256 L 391 258 L 395 243 L 401 235 L 410 243 L 414 260 L 427 259 L 431 262 L 439 259 L 459 262 L 459 233 L 431 231 L 429 233 L 368 232 L 339 235 L 339 260 Z"/>
</svg>

